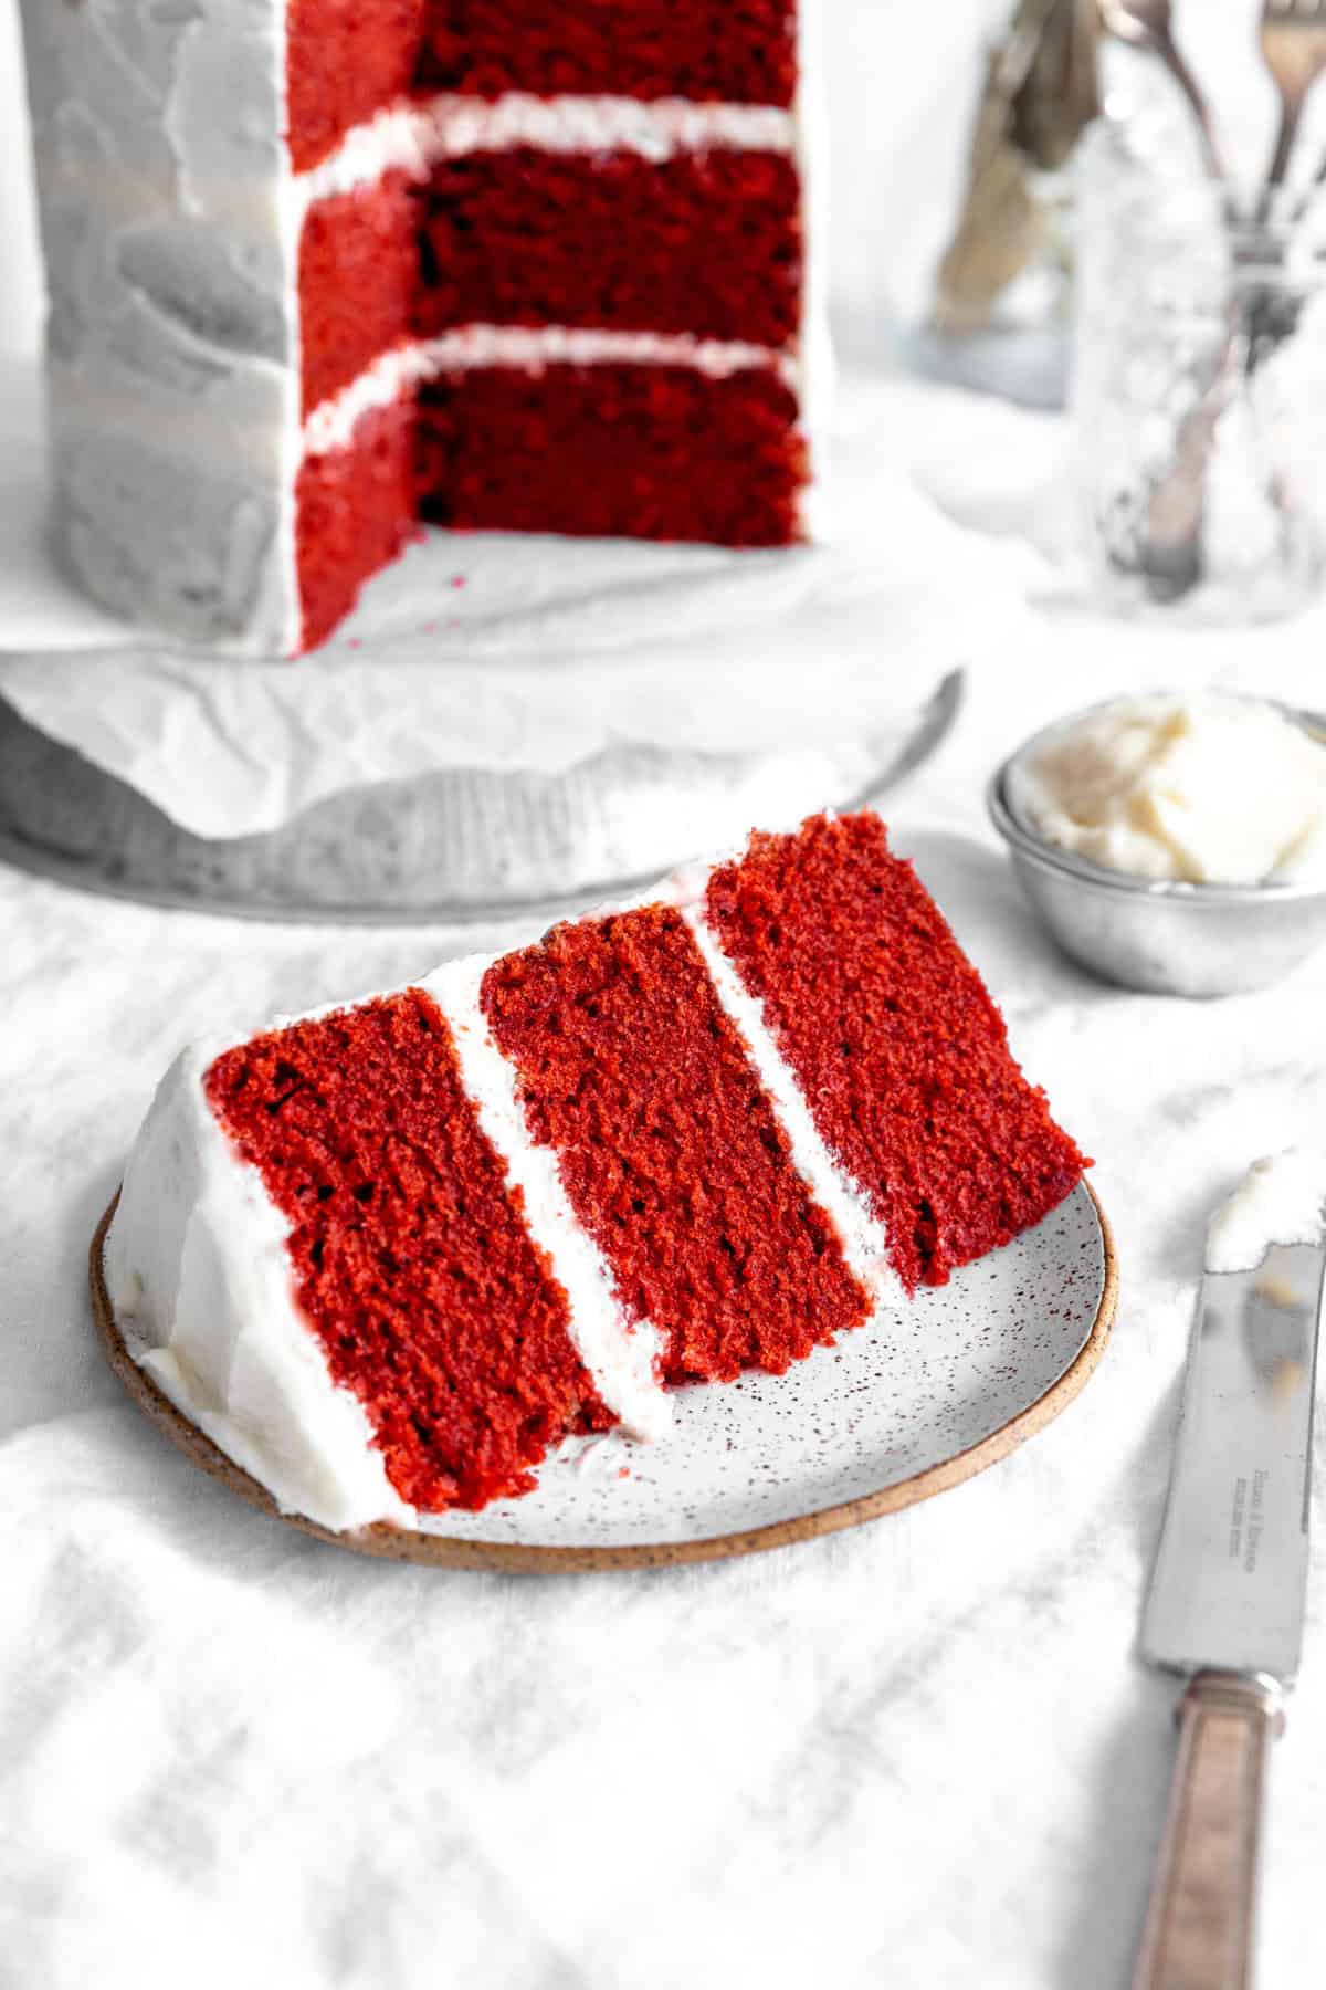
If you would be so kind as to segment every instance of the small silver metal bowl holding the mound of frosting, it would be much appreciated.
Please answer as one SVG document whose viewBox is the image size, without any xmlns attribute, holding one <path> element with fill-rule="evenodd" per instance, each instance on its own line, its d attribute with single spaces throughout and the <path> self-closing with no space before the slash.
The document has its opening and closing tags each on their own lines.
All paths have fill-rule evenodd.
<svg viewBox="0 0 1326 1990">
<path fill-rule="evenodd" d="M 1077 714 L 1085 716 L 1085 714 Z M 1326 720 L 1290 712 L 1306 730 Z M 1326 941 L 1326 884 L 1177 884 L 1129 878 L 1058 850 L 1010 808 L 1008 776 L 1064 718 L 1006 760 L 986 790 L 1030 903 L 1060 947 L 1105 981 L 1149 995 L 1270 987 Z"/>
</svg>

